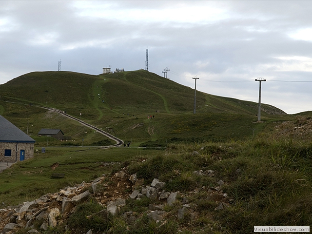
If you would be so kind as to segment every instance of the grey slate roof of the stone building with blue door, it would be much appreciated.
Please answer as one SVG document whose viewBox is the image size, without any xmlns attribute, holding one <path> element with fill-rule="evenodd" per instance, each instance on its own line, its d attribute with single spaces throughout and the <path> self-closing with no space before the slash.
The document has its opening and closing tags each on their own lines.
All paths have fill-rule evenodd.
<svg viewBox="0 0 312 234">
<path fill-rule="evenodd" d="M 0 142 L 35 143 L 36 141 L 9 120 L 0 116 Z"/>
</svg>

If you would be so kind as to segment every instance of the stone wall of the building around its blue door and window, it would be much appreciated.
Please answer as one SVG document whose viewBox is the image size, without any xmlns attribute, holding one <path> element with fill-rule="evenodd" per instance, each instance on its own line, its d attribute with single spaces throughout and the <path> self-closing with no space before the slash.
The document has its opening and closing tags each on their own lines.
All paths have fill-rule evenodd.
<svg viewBox="0 0 312 234">
<path fill-rule="evenodd" d="M 11 156 L 4 156 L 5 150 L 11 150 Z M 20 150 L 25 150 L 24 160 L 34 157 L 34 143 L 0 142 L 0 162 L 19 162 Z"/>
</svg>

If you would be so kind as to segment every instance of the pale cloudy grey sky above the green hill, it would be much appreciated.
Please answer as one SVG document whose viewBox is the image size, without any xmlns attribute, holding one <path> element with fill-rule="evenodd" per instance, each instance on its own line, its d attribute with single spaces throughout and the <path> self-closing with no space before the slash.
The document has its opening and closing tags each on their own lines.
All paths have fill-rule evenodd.
<svg viewBox="0 0 312 234">
<path fill-rule="evenodd" d="M 0 84 L 33 71 L 148 71 L 208 94 L 312 110 L 312 1 L 1 0 Z"/>
</svg>

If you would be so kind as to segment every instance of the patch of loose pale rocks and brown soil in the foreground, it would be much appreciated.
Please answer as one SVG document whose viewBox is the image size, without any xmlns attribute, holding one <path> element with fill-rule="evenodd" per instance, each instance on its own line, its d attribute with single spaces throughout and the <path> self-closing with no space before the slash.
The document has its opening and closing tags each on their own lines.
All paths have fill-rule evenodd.
<svg viewBox="0 0 312 234">
<path fill-rule="evenodd" d="M 206 172 L 195 171 L 194 174 L 197 176 L 214 176 L 214 172 L 211 170 Z M 19 206 L 0 209 L 0 231 L 3 234 L 13 234 L 17 230 L 24 229 L 27 233 L 43 233 L 48 228 L 66 224 L 67 218 L 75 212 L 77 205 L 91 199 L 101 204 L 103 210 L 100 213 L 108 216 L 118 215 L 120 208 L 126 205 L 127 199 L 141 199 L 147 196 L 155 202 L 151 202 L 148 211 L 144 213 L 147 213 L 147 216 L 156 222 L 162 222 L 162 224 L 167 222 L 167 217 L 173 215 L 177 219 L 183 219 L 184 215 L 188 214 L 191 219 L 195 219 L 197 216 L 196 204 L 189 202 L 189 199 L 200 191 L 205 191 L 210 200 L 216 203 L 215 209 L 223 209 L 224 206 L 229 206 L 230 199 L 221 190 L 224 184 L 222 180 L 219 180 L 215 187 L 197 188 L 185 194 L 178 191 L 163 190 L 165 183 L 157 178 L 150 185 L 144 186 L 143 184 L 144 179 L 137 178 L 136 174 L 128 175 L 125 169 L 113 176 L 103 175 L 89 183 L 82 182 L 74 187 L 66 187 L 55 194 L 46 194 L 37 200 L 27 201 Z M 177 199 L 180 201 L 177 212 L 176 210 L 166 212 L 164 207 L 175 205 Z M 143 214 L 129 210 L 119 215 L 131 223 Z M 87 218 L 92 216 L 89 215 Z M 36 225 L 34 225 L 35 223 Z M 72 234 L 78 233 L 76 230 L 70 231 Z M 92 231 L 89 230 L 88 234 L 92 234 Z"/>
</svg>

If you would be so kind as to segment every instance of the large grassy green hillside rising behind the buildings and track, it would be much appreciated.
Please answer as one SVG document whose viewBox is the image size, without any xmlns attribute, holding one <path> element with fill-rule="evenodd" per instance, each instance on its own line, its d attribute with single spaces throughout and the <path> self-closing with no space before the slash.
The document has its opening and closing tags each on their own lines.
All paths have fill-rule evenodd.
<svg viewBox="0 0 312 234">
<path fill-rule="evenodd" d="M 46 115 L 36 114 L 42 110 L 35 105 L 66 111 L 135 145 L 242 139 L 253 136 L 255 130 L 251 129 L 260 132 L 266 126 L 261 123 L 253 126 L 257 103 L 202 92 L 197 92 L 197 114 L 193 115 L 194 89 L 144 70 L 98 76 L 32 72 L 0 85 L 0 96 L 0 114 L 14 124 L 20 125 L 21 116 L 40 123 L 32 124 L 31 134 L 47 128 L 46 125 L 67 126 L 67 132 L 80 140 L 85 136 L 68 120 L 46 121 Z M 27 107 L 30 103 L 33 106 Z M 264 120 L 287 118 L 276 107 L 266 104 L 261 107 Z M 155 118 L 147 118 L 150 116 Z M 25 120 L 20 121 L 24 121 L 21 127 L 25 127 Z"/>
</svg>

